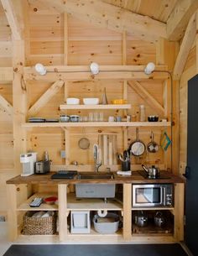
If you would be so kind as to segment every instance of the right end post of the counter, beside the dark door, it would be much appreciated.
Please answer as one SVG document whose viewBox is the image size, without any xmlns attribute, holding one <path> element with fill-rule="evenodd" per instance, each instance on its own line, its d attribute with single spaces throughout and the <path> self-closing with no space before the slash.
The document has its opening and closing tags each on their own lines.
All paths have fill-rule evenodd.
<svg viewBox="0 0 198 256">
<path fill-rule="evenodd" d="M 184 207 L 185 207 L 185 184 L 175 184 L 175 230 L 174 238 L 175 241 L 184 240 Z"/>
</svg>

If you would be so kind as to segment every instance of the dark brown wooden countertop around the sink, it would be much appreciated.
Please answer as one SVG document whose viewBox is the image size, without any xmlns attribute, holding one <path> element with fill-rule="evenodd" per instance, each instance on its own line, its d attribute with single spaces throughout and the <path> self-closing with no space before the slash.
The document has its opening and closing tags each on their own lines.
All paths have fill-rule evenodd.
<svg viewBox="0 0 198 256">
<path fill-rule="evenodd" d="M 21 176 L 18 175 L 13 177 L 13 179 L 7 180 L 7 184 L 77 184 L 77 183 L 107 183 L 107 184 L 143 184 L 143 183 L 184 183 L 185 179 L 180 177 L 179 175 L 173 175 L 167 171 L 161 171 L 160 174 L 169 176 L 169 179 L 145 179 L 142 175 L 138 173 L 138 171 L 133 171 L 130 176 L 122 176 L 114 173 L 114 179 L 112 180 L 79 180 L 75 177 L 72 180 L 67 179 L 51 179 L 51 175 L 55 172 L 50 172 L 47 175 L 29 175 L 29 176 Z"/>
</svg>

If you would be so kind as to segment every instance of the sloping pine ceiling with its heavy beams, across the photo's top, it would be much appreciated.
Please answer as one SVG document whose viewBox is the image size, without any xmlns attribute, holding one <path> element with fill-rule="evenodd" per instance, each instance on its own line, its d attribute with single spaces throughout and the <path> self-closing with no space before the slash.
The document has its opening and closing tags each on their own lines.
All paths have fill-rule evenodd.
<svg viewBox="0 0 198 256">
<path fill-rule="evenodd" d="M 45 12 L 47 10 L 50 13 L 69 13 L 74 18 L 104 29 L 112 29 L 119 33 L 126 31 L 128 35 L 150 42 L 157 41 L 160 37 L 174 41 L 182 39 L 190 17 L 198 8 L 197 0 L 0 0 L 0 2 L 6 9 L 8 24 L 13 33 L 17 33 L 16 38 L 20 38 L 23 30 L 16 3 L 26 6 L 28 4 L 29 7 L 34 5 L 38 11 L 44 6 Z"/>
</svg>

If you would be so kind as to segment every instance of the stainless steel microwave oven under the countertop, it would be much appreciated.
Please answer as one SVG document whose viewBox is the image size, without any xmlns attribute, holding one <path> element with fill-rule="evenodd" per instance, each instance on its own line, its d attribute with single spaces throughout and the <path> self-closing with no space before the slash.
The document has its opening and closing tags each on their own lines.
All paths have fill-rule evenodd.
<svg viewBox="0 0 198 256">
<path fill-rule="evenodd" d="M 133 207 L 174 206 L 173 184 L 133 185 Z"/>
</svg>

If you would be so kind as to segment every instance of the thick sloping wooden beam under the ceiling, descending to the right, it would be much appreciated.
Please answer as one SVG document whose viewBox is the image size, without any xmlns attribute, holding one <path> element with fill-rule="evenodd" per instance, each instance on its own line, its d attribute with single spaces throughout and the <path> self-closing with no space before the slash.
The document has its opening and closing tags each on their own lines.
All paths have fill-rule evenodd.
<svg viewBox="0 0 198 256">
<path fill-rule="evenodd" d="M 42 1 L 45 5 L 50 4 L 60 13 L 70 13 L 76 18 L 106 29 L 120 33 L 126 30 L 129 34 L 151 41 L 159 39 L 159 37 L 167 37 L 164 23 L 100 0 Z"/>
</svg>

